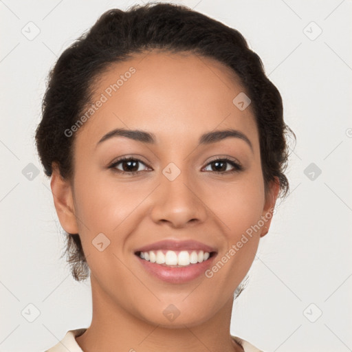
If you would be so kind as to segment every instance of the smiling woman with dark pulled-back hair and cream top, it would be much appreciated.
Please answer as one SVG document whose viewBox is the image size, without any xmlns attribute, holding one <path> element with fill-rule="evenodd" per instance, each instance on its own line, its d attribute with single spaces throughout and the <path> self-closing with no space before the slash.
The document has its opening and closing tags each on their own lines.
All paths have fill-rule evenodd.
<svg viewBox="0 0 352 352">
<path fill-rule="evenodd" d="M 109 10 L 50 73 L 36 144 L 93 317 L 50 352 L 260 351 L 233 300 L 288 181 L 281 96 L 232 28 Z"/>
</svg>

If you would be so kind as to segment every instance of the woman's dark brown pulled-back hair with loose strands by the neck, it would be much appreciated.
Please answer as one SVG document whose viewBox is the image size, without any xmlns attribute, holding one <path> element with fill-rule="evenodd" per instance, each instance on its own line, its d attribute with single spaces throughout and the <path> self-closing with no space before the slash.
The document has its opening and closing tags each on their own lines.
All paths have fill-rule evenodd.
<svg viewBox="0 0 352 352">
<path fill-rule="evenodd" d="M 61 177 L 72 181 L 74 136 L 67 137 L 65 131 L 91 100 L 100 74 L 113 63 L 153 49 L 196 54 L 230 68 L 251 100 L 259 130 L 265 195 L 270 182 L 278 180 L 279 197 L 285 197 L 289 190 L 284 174 L 289 157 L 286 135 L 292 130 L 283 120 L 281 95 L 265 75 L 261 58 L 237 30 L 185 5 L 170 3 L 108 10 L 58 58 L 47 79 L 42 119 L 35 135 L 45 174 L 50 177 L 56 164 Z M 67 263 L 74 279 L 83 281 L 90 270 L 80 236 L 65 234 Z"/>
</svg>

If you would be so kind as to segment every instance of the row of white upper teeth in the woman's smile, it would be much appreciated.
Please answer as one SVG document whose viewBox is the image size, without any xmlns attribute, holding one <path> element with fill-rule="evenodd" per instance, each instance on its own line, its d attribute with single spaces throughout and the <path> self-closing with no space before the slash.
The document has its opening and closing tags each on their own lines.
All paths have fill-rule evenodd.
<svg viewBox="0 0 352 352">
<path fill-rule="evenodd" d="M 173 250 L 166 251 L 166 254 L 162 250 L 149 252 L 140 252 L 140 258 L 150 261 L 151 263 L 165 264 L 165 265 L 180 265 L 186 266 L 195 263 L 201 263 L 202 261 L 208 260 L 210 257 L 209 252 L 199 251 L 186 251 L 181 250 L 178 254 Z"/>
</svg>

